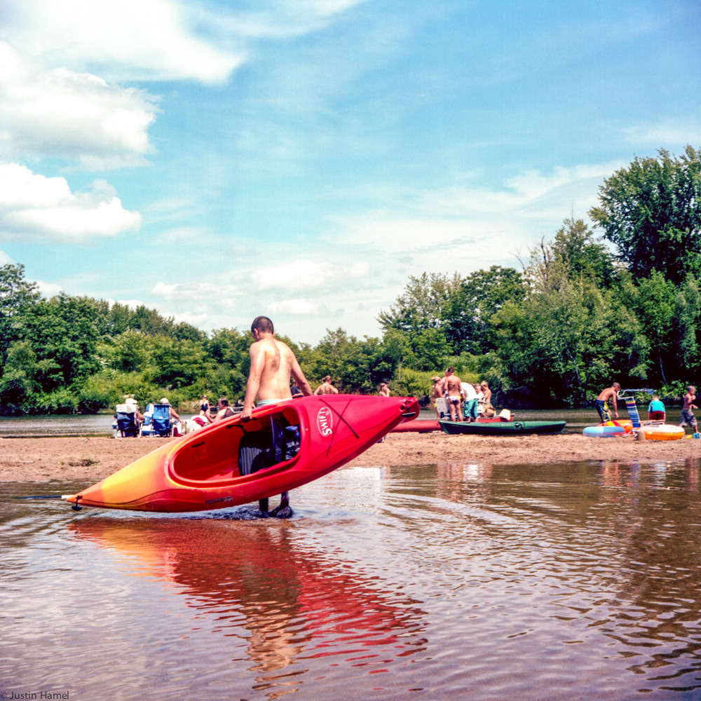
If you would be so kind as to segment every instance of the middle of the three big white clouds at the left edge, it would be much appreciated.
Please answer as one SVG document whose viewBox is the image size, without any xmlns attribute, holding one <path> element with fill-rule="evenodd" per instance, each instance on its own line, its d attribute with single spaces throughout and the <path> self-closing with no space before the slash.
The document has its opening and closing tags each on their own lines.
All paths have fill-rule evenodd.
<svg viewBox="0 0 701 701">
<path fill-rule="evenodd" d="M 86 168 L 135 165 L 151 151 L 155 98 L 90 74 L 48 70 L 0 41 L 0 155 L 58 156 Z"/>
</svg>

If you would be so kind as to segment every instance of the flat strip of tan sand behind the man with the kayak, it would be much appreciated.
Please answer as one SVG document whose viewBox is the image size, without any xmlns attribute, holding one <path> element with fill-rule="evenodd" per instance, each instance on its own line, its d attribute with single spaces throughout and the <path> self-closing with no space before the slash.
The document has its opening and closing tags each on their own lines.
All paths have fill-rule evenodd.
<svg viewBox="0 0 701 701">
<path fill-rule="evenodd" d="M 0 482 L 95 482 L 163 444 L 161 438 L 0 439 Z M 351 466 L 428 465 L 447 462 L 491 465 L 622 460 L 654 463 L 701 457 L 701 440 L 637 441 L 579 434 L 449 436 L 390 433 Z"/>
</svg>

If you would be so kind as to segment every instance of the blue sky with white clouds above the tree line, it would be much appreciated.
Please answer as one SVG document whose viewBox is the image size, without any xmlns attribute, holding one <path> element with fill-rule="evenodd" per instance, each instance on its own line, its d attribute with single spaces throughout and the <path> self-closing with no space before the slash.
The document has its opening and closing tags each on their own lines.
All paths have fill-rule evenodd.
<svg viewBox="0 0 701 701">
<path fill-rule="evenodd" d="M 701 148 L 697 0 L 3 0 L 0 265 L 210 332 L 381 336 Z"/>
</svg>

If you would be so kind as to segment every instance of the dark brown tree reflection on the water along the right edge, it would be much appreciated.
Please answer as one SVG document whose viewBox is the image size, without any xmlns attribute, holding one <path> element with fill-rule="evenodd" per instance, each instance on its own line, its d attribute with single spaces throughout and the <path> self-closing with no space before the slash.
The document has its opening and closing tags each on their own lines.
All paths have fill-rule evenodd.
<svg viewBox="0 0 701 701">
<path fill-rule="evenodd" d="M 701 667 L 699 461 L 687 458 L 683 467 L 603 461 L 600 475 L 613 507 L 611 538 L 620 546 L 612 564 L 618 614 L 615 625 L 603 630 L 636 657 L 646 653 L 632 671 L 674 665 L 667 688 L 699 688 L 674 681 Z M 657 674 L 665 676 L 665 670 Z"/>
</svg>

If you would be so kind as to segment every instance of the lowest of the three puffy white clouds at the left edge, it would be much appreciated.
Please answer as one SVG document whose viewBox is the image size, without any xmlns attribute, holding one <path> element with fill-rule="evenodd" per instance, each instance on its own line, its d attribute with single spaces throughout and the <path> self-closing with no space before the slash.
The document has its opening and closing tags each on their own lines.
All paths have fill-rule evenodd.
<svg viewBox="0 0 701 701">
<path fill-rule="evenodd" d="M 116 236 L 141 226 L 102 180 L 72 193 L 62 177 L 37 175 L 24 165 L 0 163 L 0 232 L 10 238 L 67 243 Z"/>
</svg>

